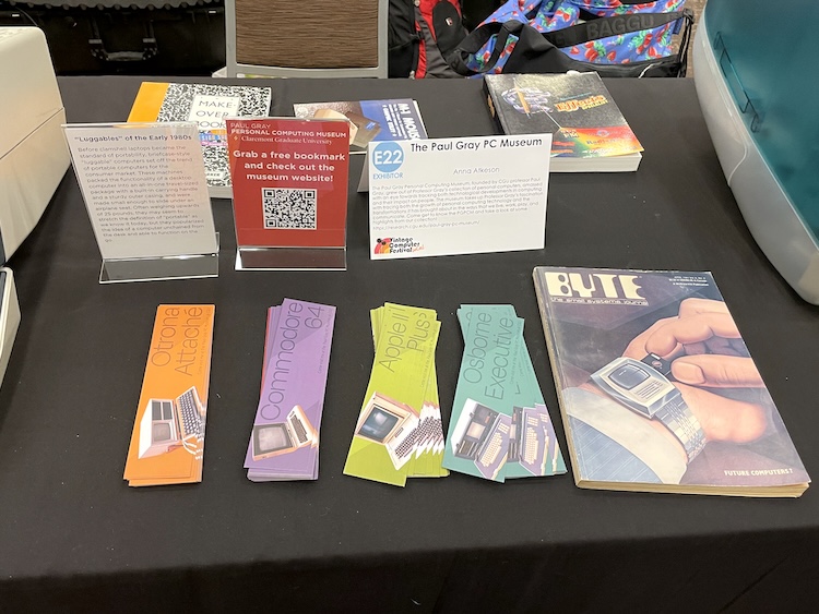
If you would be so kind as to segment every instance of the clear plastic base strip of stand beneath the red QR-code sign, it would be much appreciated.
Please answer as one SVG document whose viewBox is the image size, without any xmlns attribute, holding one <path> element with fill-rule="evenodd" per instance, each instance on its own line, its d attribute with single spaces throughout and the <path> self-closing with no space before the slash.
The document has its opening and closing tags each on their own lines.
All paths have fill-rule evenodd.
<svg viewBox="0 0 819 614">
<path fill-rule="evenodd" d="M 346 270 L 347 249 L 239 248 L 236 270 Z"/>
</svg>

